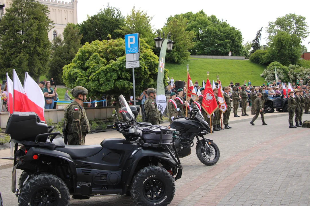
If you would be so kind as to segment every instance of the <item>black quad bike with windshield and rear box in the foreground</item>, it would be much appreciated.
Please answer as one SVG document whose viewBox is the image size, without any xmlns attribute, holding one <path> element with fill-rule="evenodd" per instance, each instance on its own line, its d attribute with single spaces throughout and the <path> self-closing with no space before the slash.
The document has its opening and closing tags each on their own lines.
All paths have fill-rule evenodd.
<svg viewBox="0 0 310 206">
<path fill-rule="evenodd" d="M 65 145 L 62 138 L 55 138 L 60 132 L 52 132 L 54 127 L 34 112 L 9 117 L 6 132 L 15 142 L 12 192 L 20 206 L 69 205 L 70 194 L 131 194 L 136 204 L 146 206 L 171 202 L 175 180 L 182 175 L 179 158 L 170 150 L 174 130 L 160 128 L 160 134 L 135 137 L 135 117 L 125 98 L 119 99 L 127 108 L 126 121 L 109 126 L 126 139 L 105 139 L 100 145 Z M 16 169 L 23 170 L 17 190 Z"/>
</svg>

